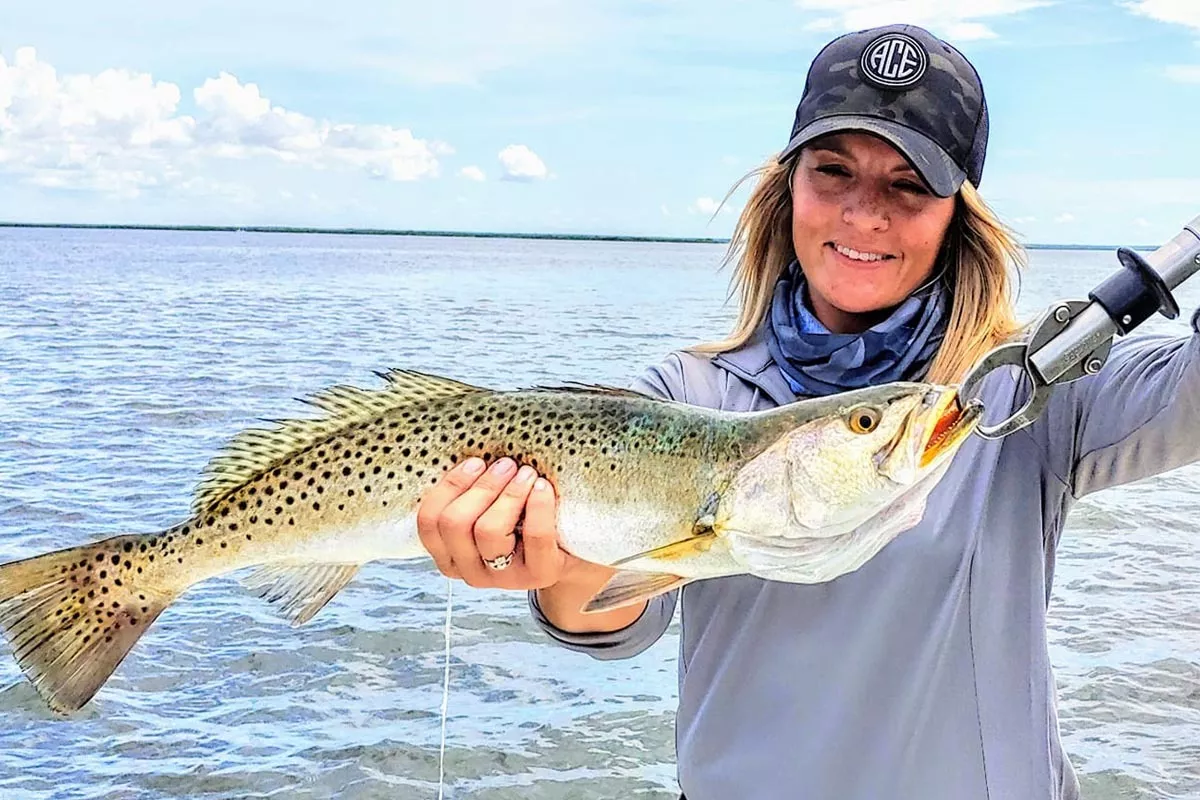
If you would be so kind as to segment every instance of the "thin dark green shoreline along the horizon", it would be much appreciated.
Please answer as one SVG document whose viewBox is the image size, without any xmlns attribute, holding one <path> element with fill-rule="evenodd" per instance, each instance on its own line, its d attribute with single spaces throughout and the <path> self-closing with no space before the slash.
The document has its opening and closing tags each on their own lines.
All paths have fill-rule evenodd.
<svg viewBox="0 0 1200 800">
<path fill-rule="evenodd" d="M 179 230 L 187 233 L 266 233 L 323 234 L 338 236 L 443 236 L 446 239 L 545 239 L 558 241 L 661 242 L 676 245 L 727 245 L 730 240 L 706 236 L 634 236 L 620 234 L 552 234 L 472 230 L 404 230 L 394 228 L 306 228 L 293 225 L 157 225 L 113 224 L 98 222 L 0 222 L 2 228 L 85 229 L 85 230 Z M 1026 249 L 1116 251 L 1122 245 L 1027 243 Z M 1152 245 L 1128 245 L 1133 249 L 1153 251 Z"/>
</svg>

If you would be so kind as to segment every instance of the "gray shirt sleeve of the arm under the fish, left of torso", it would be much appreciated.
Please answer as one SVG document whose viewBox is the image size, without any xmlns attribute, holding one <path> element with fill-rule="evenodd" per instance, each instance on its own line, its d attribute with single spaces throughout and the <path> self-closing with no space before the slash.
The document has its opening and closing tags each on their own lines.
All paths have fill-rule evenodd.
<svg viewBox="0 0 1200 800">
<path fill-rule="evenodd" d="M 629 386 L 653 397 L 676 399 L 683 397 L 683 365 L 678 356 L 671 355 L 661 365 L 650 367 Z M 534 622 L 546 632 L 554 643 L 586 652 L 593 658 L 611 661 L 636 656 L 666 632 L 674 615 L 679 590 L 652 597 L 646 610 L 636 620 L 618 631 L 572 633 L 556 627 L 538 606 L 538 593 L 529 593 L 529 613 Z"/>
</svg>

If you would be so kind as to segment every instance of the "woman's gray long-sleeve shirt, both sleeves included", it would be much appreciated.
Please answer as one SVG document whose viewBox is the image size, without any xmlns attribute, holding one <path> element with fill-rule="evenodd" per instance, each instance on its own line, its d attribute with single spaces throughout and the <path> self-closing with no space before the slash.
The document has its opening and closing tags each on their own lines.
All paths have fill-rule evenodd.
<svg viewBox="0 0 1200 800">
<path fill-rule="evenodd" d="M 796 399 L 761 342 L 672 354 L 635 389 L 739 411 Z M 994 420 L 1024 390 L 997 372 L 980 396 Z M 1198 459 L 1200 336 L 1132 336 L 1030 428 L 972 437 L 924 519 L 858 571 L 682 589 L 676 741 L 689 800 L 1078 798 L 1045 637 L 1067 512 Z M 530 604 L 564 646 L 622 658 L 666 631 L 680 593 L 613 633 L 557 630 Z"/>
</svg>

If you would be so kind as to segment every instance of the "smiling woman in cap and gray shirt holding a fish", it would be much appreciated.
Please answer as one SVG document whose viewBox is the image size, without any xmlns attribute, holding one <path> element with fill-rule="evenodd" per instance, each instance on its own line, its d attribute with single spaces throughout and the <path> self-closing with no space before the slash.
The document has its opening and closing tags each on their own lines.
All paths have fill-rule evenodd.
<svg viewBox="0 0 1200 800">
<path fill-rule="evenodd" d="M 1020 251 L 976 193 L 986 137 L 974 68 L 928 31 L 828 44 L 734 231 L 736 330 L 635 387 L 755 410 L 961 380 L 1018 330 Z M 1196 336 L 1121 339 L 1030 428 L 971 439 L 924 519 L 826 584 L 718 578 L 580 614 L 612 572 L 558 549 L 552 487 L 506 461 L 449 474 L 419 530 L 445 575 L 532 590 L 546 632 L 598 658 L 644 650 L 682 601 L 690 800 L 1076 798 L 1045 637 L 1058 535 L 1084 494 L 1200 459 L 1198 349 Z M 1002 372 L 979 396 L 992 419 L 1022 399 Z"/>
</svg>

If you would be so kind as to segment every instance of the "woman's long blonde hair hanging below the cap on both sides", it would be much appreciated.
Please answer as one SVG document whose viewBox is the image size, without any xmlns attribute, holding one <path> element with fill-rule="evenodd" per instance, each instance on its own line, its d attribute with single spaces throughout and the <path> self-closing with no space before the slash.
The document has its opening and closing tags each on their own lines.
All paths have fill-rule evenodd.
<svg viewBox="0 0 1200 800">
<path fill-rule="evenodd" d="M 695 353 L 724 353 L 749 342 L 770 312 L 775 282 L 796 258 L 791 164 L 772 158 L 734 184 L 725 200 L 756 176 L 722 260 L 734 264 L 730 294 L 739 297 L 737 321 L 726 338 L 689 348 Z M 952 300 L 946 336 L 926 380 L 958 383 L 988 350 L 1021 330 L 1013 284 L 1025 263 L 1015 234 L 964 182 L 934 267 L 949 285 Z"/>
</svg>

